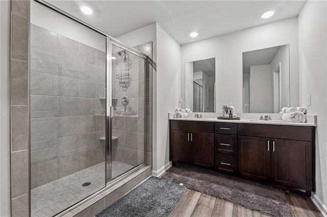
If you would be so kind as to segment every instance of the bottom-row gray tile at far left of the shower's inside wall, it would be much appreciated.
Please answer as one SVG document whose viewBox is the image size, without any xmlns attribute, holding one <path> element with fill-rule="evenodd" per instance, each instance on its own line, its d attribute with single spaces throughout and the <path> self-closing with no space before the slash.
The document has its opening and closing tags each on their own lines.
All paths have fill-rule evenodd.
<svg viewBox="0 0 327 217">
<path fill-rule="evenodd" d="M 58 159 L 31 166 L 31 189 L 58 179 Z"/>
</svg>

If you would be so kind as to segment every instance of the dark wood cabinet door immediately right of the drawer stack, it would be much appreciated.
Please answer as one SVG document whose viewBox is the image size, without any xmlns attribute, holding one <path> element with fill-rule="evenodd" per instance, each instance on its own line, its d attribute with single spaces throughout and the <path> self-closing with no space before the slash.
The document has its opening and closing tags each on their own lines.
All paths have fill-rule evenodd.
<svg viewBox="0 0 327 217">
<path fill-rule="evenodd" d="M 241 176 L 270 179 L 270 139 L 238 137 L 238 171 Z"/>
</svg>

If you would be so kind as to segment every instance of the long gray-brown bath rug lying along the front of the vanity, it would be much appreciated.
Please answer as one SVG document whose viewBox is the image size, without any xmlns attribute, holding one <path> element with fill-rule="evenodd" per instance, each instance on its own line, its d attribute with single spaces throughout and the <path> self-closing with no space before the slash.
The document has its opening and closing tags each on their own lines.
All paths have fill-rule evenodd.
<svg viewBox="0 0 327 217">
<path fill-rule="evenodd" d="M 292 216 L 285 193 L 279 188 L 184 164 L 176 164 L 162 178 L 267 215 Z"/>
</svg>

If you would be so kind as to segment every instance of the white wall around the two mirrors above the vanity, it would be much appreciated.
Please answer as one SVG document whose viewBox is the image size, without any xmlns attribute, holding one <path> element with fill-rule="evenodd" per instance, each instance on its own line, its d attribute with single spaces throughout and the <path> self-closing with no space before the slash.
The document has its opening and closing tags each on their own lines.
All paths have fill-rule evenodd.
<svg viewBox="0 0 327 217">
<path fill-rule="evenodd" d="M 278 34 L 277 34 L 278 33 Z M 233 103 L 242 110 L 242 53 L 290 44 L 291 106 L 298 105 L 298 36 L 297 17 L 256 26 L 181 46 L 181 71 L 184 63 L 216 58 L 216 107 Z M 182 73 L 183 74 L 183 73 Z M 181 93 L 184 93 L 182 75 Z M 232 90 L 226 94 L 226 90 Z"/>
</svg>

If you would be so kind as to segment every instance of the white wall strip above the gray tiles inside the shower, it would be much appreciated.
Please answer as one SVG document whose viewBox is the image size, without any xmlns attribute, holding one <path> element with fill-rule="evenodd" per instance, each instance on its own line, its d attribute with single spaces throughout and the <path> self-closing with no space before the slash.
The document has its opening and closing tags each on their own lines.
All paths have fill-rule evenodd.
<svg viewBox="0 0 327 217">
<path fill-rule="evenodd" d="M 104 52 L 106 51 L 106 38 L 103 35 L 34 1 L 31 1 L 31 23 Z"/>
</svg>

